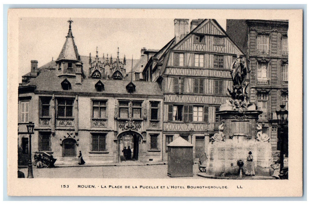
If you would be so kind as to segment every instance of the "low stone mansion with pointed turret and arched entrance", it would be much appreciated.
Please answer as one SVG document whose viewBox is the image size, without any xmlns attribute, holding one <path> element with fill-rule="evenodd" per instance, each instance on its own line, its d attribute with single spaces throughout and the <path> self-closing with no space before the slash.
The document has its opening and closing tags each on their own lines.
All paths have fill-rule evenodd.
<svg viewBox="0 0 310 205">
<path fill-rule="evenodd" d="M 158 83 L 131 78 L 133 62 L 118 52 L 116 59 L 99 58 L 98 51 L 94 59 L 80 56 L 69 23 L 57 60 L 41 68 L 32 60 L 18 88 L 18 164 L 29 159 L 29 122 L 35 125 L 32 151 L 53 154 L 56 164 L 77 163 L 79 151 L 86 163 L 117 163 L 124 146 L 134 160 L 162 161 Z"/>
</svg>

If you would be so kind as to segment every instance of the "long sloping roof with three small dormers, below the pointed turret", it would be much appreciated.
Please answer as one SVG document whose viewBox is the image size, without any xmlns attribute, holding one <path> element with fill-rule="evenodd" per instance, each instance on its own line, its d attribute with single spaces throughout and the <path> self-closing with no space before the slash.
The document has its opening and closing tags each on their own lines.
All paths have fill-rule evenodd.
<svg viewBox="0 0 310 205">
<path fill-rule="evenodd" d="M 82 84 L 75 84 L 76 78 L 67 78 L 71 83 L 72 89 L 63 90 L 61 82 L 65 78 L 59 78 L 56 76 L 55 71 L 48 70 L 42 72 L 37 78 L 33 78 L 27 86 L 36 86 L 36 91 L 53 91 L 53 92 L 65 92 L 65 93 L 102 93 L 104 94 L 123 94 L 123 95 L 148 95 L 148 96 L 162 96 L 162 91 L 157 82 L 146 82 L 146 81 L 133 81 L 135 84 L 135 92 L 128 93 L 126 85 L 130 81 L 128 80 L 104 80 L 104 79 L 82 79 Z M 97 92 L 95 84 L 98 81 L 104 84 L 104 91 Z"/>
</svg>

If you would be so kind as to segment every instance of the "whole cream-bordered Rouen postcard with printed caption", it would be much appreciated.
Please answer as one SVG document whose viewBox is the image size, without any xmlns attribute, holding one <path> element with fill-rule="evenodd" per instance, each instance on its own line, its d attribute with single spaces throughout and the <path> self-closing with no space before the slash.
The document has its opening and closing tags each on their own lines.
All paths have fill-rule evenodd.
<svg viewBox="0 0 310 205">
<path fill-rule="evenodd" d="M 9 9 L 8 195 L 302 196 L 302 18 Z"/>
</svg>

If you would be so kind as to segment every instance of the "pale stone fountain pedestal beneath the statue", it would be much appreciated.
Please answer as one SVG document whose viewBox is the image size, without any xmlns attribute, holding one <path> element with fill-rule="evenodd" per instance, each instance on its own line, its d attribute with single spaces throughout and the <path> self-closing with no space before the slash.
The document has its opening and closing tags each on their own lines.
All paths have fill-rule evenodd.
<svg viewBox="0 0 310 205">
<path fill-rule="evenodd" d="M 255 139 L 256 122 L 262 113 L 259 110 L 246 110 L 243 112 L 235 110 L 220 110 L 221 121 L 224 121 L 226 141 L 214 141 L 208 144 L 208 160 L 206 172 L 208 174 L 238 175 L 238 160 L 244 162 L 246 170 L 246 158 L 249 151 L 252 152 L 255 175 L 270 176 L 270 164 L 272 163 L 271 144 L 259 142 Z"/>
</svg>

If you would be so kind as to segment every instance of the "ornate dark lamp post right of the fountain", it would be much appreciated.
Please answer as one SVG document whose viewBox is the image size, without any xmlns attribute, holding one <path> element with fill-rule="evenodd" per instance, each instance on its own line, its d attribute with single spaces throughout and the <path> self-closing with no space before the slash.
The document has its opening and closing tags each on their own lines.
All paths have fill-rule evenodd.
<svg viewBox="0 0 310 205">
<path fill-rule="evenodd" d="M 280 128 L 280 138 L 281 138 L 281 148 L 280 148 L 280 174 L 283 174 L 283 166 L 284 166 L 284 129 L 287 126 L 287 116 L 288 111 L 285 110 L 285 105 L 280 105 L 280 111 L 276 111 L 278 126 Z"/>
</svg>

